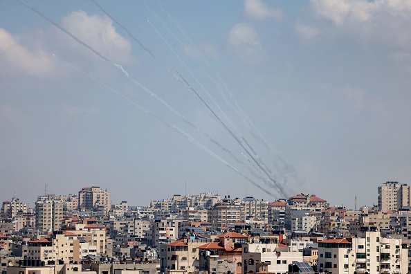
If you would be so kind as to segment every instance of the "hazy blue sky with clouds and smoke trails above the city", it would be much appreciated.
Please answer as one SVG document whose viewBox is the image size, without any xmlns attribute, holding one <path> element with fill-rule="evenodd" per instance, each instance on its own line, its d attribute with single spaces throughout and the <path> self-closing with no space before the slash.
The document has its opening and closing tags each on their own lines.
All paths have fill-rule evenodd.
<svg viewBox="0 0 411 274">
<path fill-rule="evenodd" d="M 377 203 L 411 178 L 411 2 L 0 1 L 0 199 Z"/>
</svg>

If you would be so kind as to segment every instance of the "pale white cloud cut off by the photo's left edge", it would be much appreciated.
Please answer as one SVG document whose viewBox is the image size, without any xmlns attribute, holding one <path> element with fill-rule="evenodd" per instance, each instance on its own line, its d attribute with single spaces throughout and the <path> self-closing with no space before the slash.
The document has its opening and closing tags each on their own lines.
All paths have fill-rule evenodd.
<svg viewBox="0 0 411 274">
<path fill-rule="evenodd" d="M 3 28 L 0 28 L 0 41 L 1 71 L 12 69 L 35 77 L 44 77 L 53 71 L 54 60 L 51 54 L 42 49 L 30 51 Z"/>
</svg>

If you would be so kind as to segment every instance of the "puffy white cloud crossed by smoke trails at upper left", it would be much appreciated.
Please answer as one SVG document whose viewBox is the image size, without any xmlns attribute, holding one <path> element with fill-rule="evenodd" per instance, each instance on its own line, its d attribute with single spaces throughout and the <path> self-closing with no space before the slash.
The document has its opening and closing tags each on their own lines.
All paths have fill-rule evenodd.
<svg viewBox="0 0 411 274">
<path fill-rule="evenodd" d="M 131 44 L 129 40 L 116 32 L 113 21 L 109 17 L 89 16 L 80 10 L 71 12 L 64 17 L 62 26 L 109 59 L 121 62 L 129 61 Z M 77 44 L 77 42 L 72 42 Z"/>
</svg>

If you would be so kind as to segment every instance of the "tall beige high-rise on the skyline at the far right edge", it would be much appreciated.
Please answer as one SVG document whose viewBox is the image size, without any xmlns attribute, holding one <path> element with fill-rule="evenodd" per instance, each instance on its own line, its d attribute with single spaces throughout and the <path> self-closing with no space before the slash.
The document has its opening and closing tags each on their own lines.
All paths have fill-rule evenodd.
<svg viewBox="0 0 411 274">
<path fill-rule="evenodd" d="M 378 187 L 378 209 L 394 212 L 410 206 L 410 185 L 399 182 L 386 182 Z"/>
</svg>

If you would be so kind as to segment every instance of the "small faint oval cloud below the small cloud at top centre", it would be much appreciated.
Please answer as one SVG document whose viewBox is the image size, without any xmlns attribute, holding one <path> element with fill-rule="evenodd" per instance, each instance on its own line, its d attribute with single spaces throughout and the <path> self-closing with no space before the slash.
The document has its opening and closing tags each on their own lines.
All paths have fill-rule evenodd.
<svg viewBox="0 0 411 274">
<path fill-rule="evenodd" d="M 228 44 L 237 57 L 248 64 L 259 64 L 266 57 L 258 34 L 250 24 L 240 23 L 232 27 Z"/>
</svg>

